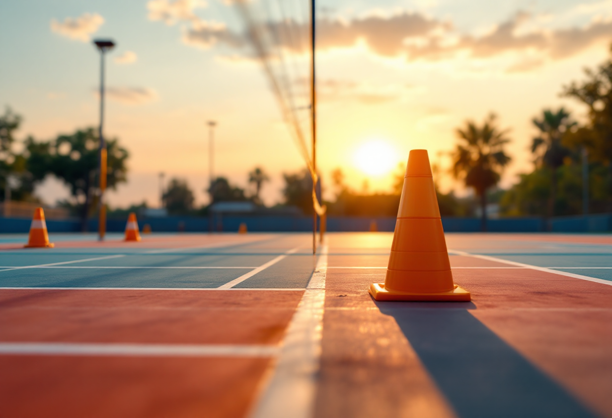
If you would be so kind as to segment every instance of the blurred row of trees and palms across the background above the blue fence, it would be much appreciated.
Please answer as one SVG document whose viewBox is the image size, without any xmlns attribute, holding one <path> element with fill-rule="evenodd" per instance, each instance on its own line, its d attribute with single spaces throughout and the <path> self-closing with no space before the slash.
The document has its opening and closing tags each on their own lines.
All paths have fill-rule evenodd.
<svg viewBox="0 0 612 418">
<path fill-rule="evenodd" d="M 612 46 L 610 48 L 612 53 Z M 586 69 L 584 79 L 563 86 L 562 97 L 577 100 L 586 106 L 588 117 L 578 123 L 564 108 L 543 109 L 532 119 L 537 135 L 532 138 L 534 163 L 531 172 L 520 174 L 518 182 L 507 190 L 498 184 L 512 160 L 507 152 L 510 130 L 499 127 L 495 114 L 482 123 L 466 120 L 455 130 L 457 142 L 452 151 L 452 167 L 447 174 L 474 191 L 474 196 L 457 197 L 453 192 L 438 191 L 443 216 L 482 216 L 486 228 L 487 206 L 499 205 L 506 216 L 578 215 L 612 212 L 612 60 L 597 68 Z M 35 141 L 29 136 L 17 141 L 15 131 L 21 116 L 9 108 L 0 116 L 0 199 L 37 202 L 34 188 L 47 175 L 61 179 L 71 197 L 60 205 L 70 208 L 86 225 L 97 207 L 99 139 L 94 128 L 62 134 L 50 141 Z M 20 147 L 15 147 L 21 142 Z M 108 140 L 108 187 L 115 189 L 127 181 L 129 152 L 119 139 Z M 19 152 L 16 148 L 21 149 Z M 395 216 L 403 183 L 399 167 L 391 193 L 359 193 L 345 184 L 340 169 L 330 176 L 329 186 L 335 199 L 326 202 L 328 213 L 339 216 Z M 445 174 L 434 164 L 435 178 Z M 233 185 L 225 177 L 217 177 L 204 190 L 212 203 L 250 200 L 263 206 L 261 191 L 269 175 L 262 167 L 248 172 L 250 191 Z M 324 179 L 326 180 L 326 179 Z M 312 180 L 306 170 L 283 174 L 285 185 L 280 205 L 299 208 L 312 214 Z M 584 186 L 588 185 L 588 190 Z M 4 192 L 4 193 L 2 193 Z M 319 191 L 320 193 L 320 191 Z M 588 202 L 584 200 L 588 197 Z M 195 207 L 195 197 L 185 180 L 173 178 L 162 196 L 171 215 L 206 215 L 208 208 Z M 588 203 L 588 205 L 587 205 Z M 126 210 L 142 207 L 136 205 Z M 126 210 L 116 210 L 123 214 Z M 113 211 L 110 212 L 113 216 Z"/>
</svg>

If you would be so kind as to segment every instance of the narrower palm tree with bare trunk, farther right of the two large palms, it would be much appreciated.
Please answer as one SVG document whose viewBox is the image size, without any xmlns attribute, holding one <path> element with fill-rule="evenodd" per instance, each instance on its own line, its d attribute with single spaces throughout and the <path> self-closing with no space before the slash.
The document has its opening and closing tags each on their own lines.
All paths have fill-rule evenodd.
<svg viewBox="0 0 612 418">
<path fill-rule="evenodd" d="M 540 130 L 540 134 L 533 139 L 531 152 L 536 154 L 536 164 L 550 169 L 548 216 L 554 216 L 554 204 L 557 199 L 557 171 L 563 165 L 565 157 L 571 153 L 561 141 L 565 133 L 576 125 L 576 122 L 570 120 L 570 114 L 564 108 L 559 108 L 556 112 L 545 109 L 542 111 L 542 118 L 534 117 L 532 122 Z M 543 151 L 540 151 L 541 149 Z"/>
</svg>

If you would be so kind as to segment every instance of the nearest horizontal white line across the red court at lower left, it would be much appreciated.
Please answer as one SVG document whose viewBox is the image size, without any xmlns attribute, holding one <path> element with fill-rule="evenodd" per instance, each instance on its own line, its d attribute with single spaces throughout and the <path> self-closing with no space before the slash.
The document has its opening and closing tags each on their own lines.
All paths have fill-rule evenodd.
<svg viewBox="0 0 612 418">
<path fill-rule="evenodd" d="M 135 357 L 275 357 L 275 345 L 0 343 L 0 355 Z"/>
</svg>

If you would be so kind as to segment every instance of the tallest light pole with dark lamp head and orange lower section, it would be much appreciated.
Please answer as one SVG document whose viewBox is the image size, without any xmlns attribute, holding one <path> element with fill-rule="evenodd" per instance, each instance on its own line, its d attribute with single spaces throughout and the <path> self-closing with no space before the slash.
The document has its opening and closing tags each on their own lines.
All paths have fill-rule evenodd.
<svg viewBox="0 0 612 418">
<path fill-rule="evenodd" d="M 98 136 L 100 138 L 100 170 L 99 186 L 100 201 L 98 215 L 98 239 L 104 240 L 106 235 L 106 206 L 104 205 L 104 191 L 106 190 L 106 142 L 104 141 L 104 56 L 112 50 L 115 43 L 110 39 L 94 39 L 95 46 L 100 51 L 100 128 Z"/>
</svg>

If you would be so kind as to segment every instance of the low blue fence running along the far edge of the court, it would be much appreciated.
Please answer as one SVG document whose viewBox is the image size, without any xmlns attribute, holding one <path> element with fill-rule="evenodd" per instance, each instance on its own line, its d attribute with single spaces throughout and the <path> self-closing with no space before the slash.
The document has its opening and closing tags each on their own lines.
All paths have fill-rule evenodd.
<svg viewBox="0 0 612 418">
<path fill-rule="evenodd" d="M 108 232 L 122 232 L 126 219 L 109 219 Z M 154 232 L 207 232 L 211 222 L 208 218 L 188 216 L 168 216 L 167 218 L 145 218 L 138 221 L 142 229 L 149 224 Z M 250 232 L 308 232 L 312 231 L 312 218 L 297 216 L 223 216 L 212 220 L 215 232 L 236 232 L 244 222 Z M 371 222 L 376 222 L 379 231 L 392 232 L 395 218 L 335 217 L 327 219 L 330 232 L 360 232 L 370 230 Z M 542 218 L 501 218 L 487 221 L 488 232 L 609 232 L 612 231 L 612 214 L 589 216 L 563 216 L 548 221 L 548 228 Z M 0 218 L 0 233 L 26 233 L 31 219 Z M 480 232 L 479 218 L 442 218 L 446 232 Z M 76 220 L 47 221 L 49 232 L 80 232 L 80 222 Z M 97 231 L 98 222 L 91 219 L 88 230 Z"/>
</svg>

